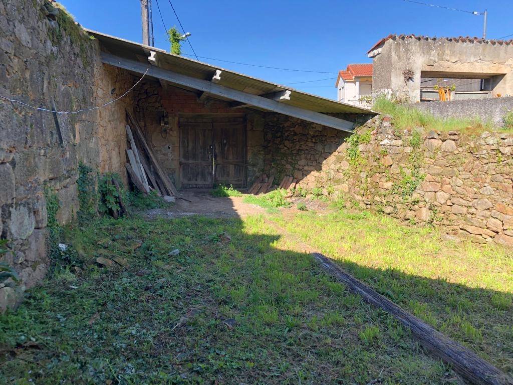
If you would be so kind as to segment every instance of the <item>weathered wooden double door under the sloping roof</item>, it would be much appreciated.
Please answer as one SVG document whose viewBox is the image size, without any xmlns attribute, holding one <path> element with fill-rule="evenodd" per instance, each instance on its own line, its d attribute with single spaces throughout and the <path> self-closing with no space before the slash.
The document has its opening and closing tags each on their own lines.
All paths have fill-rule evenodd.
<svg viewBox="0 0 513 385">
<path fill-rule="evenodd" d="M 246 187 L 245 119 L 183 118 L 179 127 L 183 188 Z"/>
</svg>

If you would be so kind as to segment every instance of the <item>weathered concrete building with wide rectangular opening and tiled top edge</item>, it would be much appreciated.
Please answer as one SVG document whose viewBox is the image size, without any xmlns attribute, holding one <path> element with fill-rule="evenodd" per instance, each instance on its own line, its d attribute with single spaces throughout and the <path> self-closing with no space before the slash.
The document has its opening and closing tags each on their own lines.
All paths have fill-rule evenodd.
<svg viewBox="0 0 513 385">
<path fill-rule="evenodd" d="M 478 91 L 484 91 L 486 97 L 513 95 L 513 40 L 388 35 L 368 56 L 373 63 L 374 98 L 385 94 L 404 102 L 420 102 L 426 78 L 478 79 L 482 80 Z"/>
</svg>

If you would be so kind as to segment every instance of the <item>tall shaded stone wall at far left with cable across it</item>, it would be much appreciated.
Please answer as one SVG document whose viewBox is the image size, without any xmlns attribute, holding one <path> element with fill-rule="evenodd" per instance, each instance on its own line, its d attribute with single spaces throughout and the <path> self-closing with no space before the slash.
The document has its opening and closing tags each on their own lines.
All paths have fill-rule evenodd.
<svg viewBox="0 0 513 385">
<path fill-rule="evenodd" d="M 98 45 L 44 0 L 0 0 L 0 94 L 47 109 L 77 110 L 121 95 L 133 79 L 107 70 Z M 124 174 L 124 114 L 129 100 L 80 114 L 0 101 L 1 256 L 21 277 L 0 288 L 0 311 L 47 270 L 45 188 L 60 201 L 57 220 L 75 217 L 80 161 Z M 0 282 L 0 286 L 3 284 Z"/>
</svg>

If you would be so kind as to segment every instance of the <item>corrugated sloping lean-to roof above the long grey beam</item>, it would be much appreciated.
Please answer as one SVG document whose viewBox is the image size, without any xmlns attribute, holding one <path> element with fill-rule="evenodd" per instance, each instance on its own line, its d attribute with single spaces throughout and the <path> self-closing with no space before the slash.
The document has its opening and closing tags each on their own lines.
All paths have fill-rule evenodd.
<svg viewBox="0 0 513 385">
<path fill-rule="evenodd" d="M 159 48 L 131 42 L 120 37 L 110 36 L 89 29 L 86 29 L 86 32 L 94 36 L 101 43 L 102 49 L 113 55 L 122 56 L 131 60 L 146 61 L 146 63 L 148 63 L 147 58 L 149 51 L 156 51 L 159 52 L 159 67 L 193 78 L 211 80 L 215 70 L 219 69 L 223 71 L 222 81 L 219 84 L 239 91 L 254 95 L 264 95 L 270 92 L 291 90 L 293 97 L 290 98 L 290 101 L 284 103 L 295 107 L 324 113 L 373 113 L 371 110 L 365 108 L 339 103 L 284 85 L 253 78 L 252 76 L 230 71 L 219 66 L 213 66 L 187 57 L 175 55 Z"/>
</svg>

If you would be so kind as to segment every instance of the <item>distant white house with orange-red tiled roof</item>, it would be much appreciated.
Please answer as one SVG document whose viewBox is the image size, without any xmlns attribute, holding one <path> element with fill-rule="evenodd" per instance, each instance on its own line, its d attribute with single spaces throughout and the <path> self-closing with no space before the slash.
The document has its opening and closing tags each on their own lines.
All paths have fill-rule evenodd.
<svg viewBox="0 0 513 385">
<path fill-rule="evenodd" d="M 349 64 L 339 71 L 337 100 L 358 107 L 372 105 L 372 64 Z"/>
</svg>

